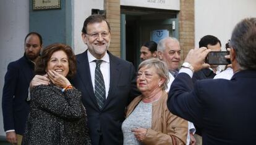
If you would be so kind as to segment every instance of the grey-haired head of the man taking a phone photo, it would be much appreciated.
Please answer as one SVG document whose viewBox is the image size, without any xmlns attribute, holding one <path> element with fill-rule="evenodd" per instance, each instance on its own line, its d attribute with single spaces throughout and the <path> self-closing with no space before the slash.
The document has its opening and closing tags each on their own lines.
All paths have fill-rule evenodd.
<svg viewBox="0 0 256 145">
<path fill-rule="evenodd" d="M 256 18 L 245 18 L 236 25 L 230 45 L 241 69 L 256 69 Z"/>
</svg>

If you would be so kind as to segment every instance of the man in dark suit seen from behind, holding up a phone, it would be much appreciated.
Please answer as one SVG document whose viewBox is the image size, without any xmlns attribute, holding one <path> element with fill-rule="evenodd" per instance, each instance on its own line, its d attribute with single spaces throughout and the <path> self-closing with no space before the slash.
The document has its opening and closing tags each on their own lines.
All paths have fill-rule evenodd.
<svg viewBox="0 0 256 145">
<path fill-rule="evenodd" d="M 231 36 L 231 80 L 205 79 L 193 85 L 194 71 L 209 49 L 192 49 L 169 91 L 173 114 L 200 125 L 203 144 L 255 144 L 256 18 L 238 23 Z"/>
</svg>

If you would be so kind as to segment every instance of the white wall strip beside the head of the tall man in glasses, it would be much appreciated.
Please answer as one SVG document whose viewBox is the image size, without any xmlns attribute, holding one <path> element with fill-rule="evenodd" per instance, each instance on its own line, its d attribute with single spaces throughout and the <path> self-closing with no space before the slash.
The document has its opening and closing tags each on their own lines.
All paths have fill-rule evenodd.
<svg viewBox="0 0 256 145">
<path fill-rule="evenodd" d="M 74 1 L 74 52 L 82 53 L 87 49 L 87 45 L 83 43 L 81 34 L 82 26 L 85 18 L 92 14 L 92 9 L 104 9 L 103 0 L 93 1 Z"/>
</svg>

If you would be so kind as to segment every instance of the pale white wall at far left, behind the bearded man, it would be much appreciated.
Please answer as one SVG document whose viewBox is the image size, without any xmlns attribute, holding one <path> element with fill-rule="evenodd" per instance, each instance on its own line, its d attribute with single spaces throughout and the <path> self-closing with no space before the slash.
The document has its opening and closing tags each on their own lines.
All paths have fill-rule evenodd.
<svg viewBox="0 0 256 145">
<path fill-rule="evenodd" d="M 0 4 L 0 135 L 4 133 L 2 123 L 2 88 L 7 65 L 24 53 L 24 38 L 28 33 L 28 1 L 4 0 Z"/>
</svg>

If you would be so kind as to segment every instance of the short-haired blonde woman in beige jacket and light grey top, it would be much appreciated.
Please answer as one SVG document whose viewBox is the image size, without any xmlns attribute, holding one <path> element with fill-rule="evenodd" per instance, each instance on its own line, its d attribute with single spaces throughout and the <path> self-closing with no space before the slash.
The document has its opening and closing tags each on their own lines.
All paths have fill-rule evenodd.
<svg viewBox="0 0 256 145">
<path fill-rule="evenodd" d="M 166 105 L 168 79 L 163 61 L 151 58 L 139 65 L 137 87 L 142 95 L 127 107 L 124 144 L 186 144 L 187 121 L 171 114 Z"/>
</svg>

